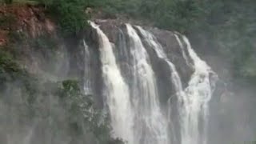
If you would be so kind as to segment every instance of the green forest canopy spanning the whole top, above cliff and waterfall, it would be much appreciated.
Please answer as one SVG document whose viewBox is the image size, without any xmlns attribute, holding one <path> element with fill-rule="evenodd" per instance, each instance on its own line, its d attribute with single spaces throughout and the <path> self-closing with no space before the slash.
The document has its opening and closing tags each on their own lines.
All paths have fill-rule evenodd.
<svg viewBox="0 0 256 144">
<path fill-rule="evenodd" d="M 87 7 L 113 18 L 122 14 L 146 20 L 165 30 L 189 35 L 192 43 L 206 42 L 210 51 L 226 58 L 238 78 L 256 79 L 256 1 L 253 0 L 2 0 L 36 2 L 45 6 L 65 35 L 86 29 Z"/>
</svg>

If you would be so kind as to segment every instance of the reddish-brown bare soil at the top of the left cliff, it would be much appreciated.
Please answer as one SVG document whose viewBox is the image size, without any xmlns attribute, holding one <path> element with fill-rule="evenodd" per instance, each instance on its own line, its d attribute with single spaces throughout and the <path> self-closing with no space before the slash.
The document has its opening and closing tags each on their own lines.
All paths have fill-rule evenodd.
<svg viewBox="0 0 256 144">
<path fill-rule="evenodd" d="M 9 27 L 0 28 L 0 46 L 8 42 L 10 30 L 25 31 L 33 38 L 42 32 L 52 33 L 55 30 L 54 23 L 46 18 L 42 7 L 18 4 L 0 6 L 0 18 L 5 15 L 14 16 L 15 21 Z"/>
</svg>

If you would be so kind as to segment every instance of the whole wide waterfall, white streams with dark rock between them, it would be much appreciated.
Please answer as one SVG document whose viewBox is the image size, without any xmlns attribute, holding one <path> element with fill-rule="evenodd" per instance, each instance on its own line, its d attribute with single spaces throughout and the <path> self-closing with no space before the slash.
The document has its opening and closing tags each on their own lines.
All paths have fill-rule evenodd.
<svg viewBox="0 0 256 144">
<path fill-rule="evenodd" d="M 115 20 L 90 24 L 85 90 L 109 110 L 114 136 L 132 144 L 206 142 L 216 75 L 189 40 Z"/>
</svg>

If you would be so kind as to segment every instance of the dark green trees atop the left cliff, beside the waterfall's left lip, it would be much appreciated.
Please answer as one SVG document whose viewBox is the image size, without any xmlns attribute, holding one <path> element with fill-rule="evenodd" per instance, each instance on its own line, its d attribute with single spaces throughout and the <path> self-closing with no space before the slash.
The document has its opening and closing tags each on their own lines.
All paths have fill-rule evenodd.
<svg viewBox="0 0 256 144">
<path fill-rule="evenodd" d="M 86 7 L 90 2 L 86 0 L 4 0 L 0 3 L 10 4 L 18 2 L 22 4 L 43 5 L 48 13 L 54 17 L 62 34 L 65 36 L 72 36 L 78 34 L 78 32 L 84 30 L 88 26 L 87 20 L 89 18 L 86 15 Z M 10 16 L 4 16 L 0 18 L 0 27 L 6 26 L 10 22 Z"/>
</svg>

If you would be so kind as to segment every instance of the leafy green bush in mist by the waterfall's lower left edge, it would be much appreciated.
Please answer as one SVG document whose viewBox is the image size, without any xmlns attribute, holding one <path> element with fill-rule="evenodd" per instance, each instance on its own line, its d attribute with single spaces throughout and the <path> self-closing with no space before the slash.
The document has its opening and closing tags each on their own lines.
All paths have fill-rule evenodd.
<svg viewBox="0 0 256 144">
<path fill-rule="evenodd" d="M 91 95 L 83 94 L 78 81 L 66 80 L 58 88 L 63 107 L 69 114 L 69 124 L 76 134 L 92 132 L 100 144 L 122 144 L 119 139 L 110 137 L 110 125 L 107 116 L 97 110 Z M 81 122 L 82 120 L 82 122 Z M 86 129 L 82 129 L 86 124 Z"/>
</svg>

